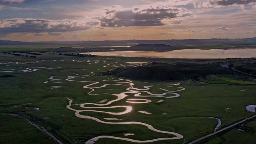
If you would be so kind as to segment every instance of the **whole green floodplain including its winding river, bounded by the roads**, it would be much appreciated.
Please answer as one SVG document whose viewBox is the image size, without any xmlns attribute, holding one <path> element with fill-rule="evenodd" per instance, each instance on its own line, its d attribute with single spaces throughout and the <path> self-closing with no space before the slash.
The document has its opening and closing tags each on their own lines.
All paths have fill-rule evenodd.
<svg viewBox="0 0 256 144">
<path fill-rule="evenodd" d="M 96 75 L 149 62 L 136 58 L 1 58 L 0 112 L 22 114 L 63 143 L 179 144 L 254 114 L 246 110 L 256 102 L 252 83 L 206 77 L 208 84 L 173 86 L 180 81 Z"/>
</svg>

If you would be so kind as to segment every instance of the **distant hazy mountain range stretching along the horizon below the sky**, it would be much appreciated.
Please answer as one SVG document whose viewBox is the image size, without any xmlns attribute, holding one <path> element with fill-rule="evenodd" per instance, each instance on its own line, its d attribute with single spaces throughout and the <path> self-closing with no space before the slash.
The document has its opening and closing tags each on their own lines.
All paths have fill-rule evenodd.
<svg viewBox="0 0 256 144">
<path fill-rule="evenodd" d="M 115 45 L 136 45 L 136 44 L 166 44 L 166 45 L 256 45 L 256 38 L 241 39 L 187 39 L 187 40 L 106 40 L 106 41 L 65 41 L 65 42 L 20 42 L 0 40 L 0 45 L 63 45 L 63 46 L 115 46 Z"/>
</svg>

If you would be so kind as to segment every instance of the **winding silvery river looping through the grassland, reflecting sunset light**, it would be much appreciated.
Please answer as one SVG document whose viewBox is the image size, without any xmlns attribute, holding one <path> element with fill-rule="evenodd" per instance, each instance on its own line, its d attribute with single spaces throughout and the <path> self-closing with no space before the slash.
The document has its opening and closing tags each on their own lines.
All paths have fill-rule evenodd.
<svg viewBox="0 0 256 144">
<path fill-rule="evenodd" d="M 127 113 L 132 112 L 132 110 L 133 110 L 132 106 L 108 106 L 108 105 L 114 104 L 114 103 L 118 102 L 119 100 L 122 100 L 122 99 L 124 99 L 126 97 L 130 97 L 127 94 L 134 94 L 134 97 L 135 97 L 135 98 L 128 98 L 128 99 L 126 99 L 127 104 L 128 103 L 132 103 L 132 104 L 146 104 L 146 103 L 152 102 L 152 100 L 140 99 L 140 98 L 136 98 L 136 97 L 176 98 L 176 97 L 178 97 L 180 95 L 177 94 L 177 93 L 174 93 L 174 92 L 185 90 L 185 88 L 177 87 L 177 88 L 181 88 L 181 89 L 180 90 L 176 90 L 176 91 L 170 91 L 170 90 L 166 90 L 166 89 L 160 88 L 161 90 L 164 90 L 166 92 L 164 92 L 162 94 L 152 94 L 151 92 L 149 92 L 149 90 L 150 90 L 150 88 L 152 86 L 143 86 L 142 89 L 134 88 L 134 83 L 132 83 L 131 80 L 126 80 L 126 79 L 122 79 L 122 78 L 120 78 L 118 80 L 113 80 L 113 79 L 102 80 L 102 82 L 104 82 L 103 85 L 102 85 L 101 82 L 74 80 L 74 79 L 82 78 L 82 77 L 86 77 L 86 76 L 65 76 L 62 79 L 59 79 L 59 78 L 56 79 L 54 77 L 60 77 L 60 76 L 51 76 L 49 79 L 51 81 L 57 81 L 57 82 L 58 82 L 58 80 L 63 80 L 63 81 L 66 80 L 66 81 L 69 81 L 69 82 L 85 82 L 85 83 L 87 83 L 87 85 L 84 86 L 83 88 L 90 89 L 91 91 L 88 92 L 87 94 L 91 95 L 91 96 L 101 96 L 101 95 L 104 96 L 104 95 L 108 94 L 108 93 L 104 93 L 104 94 L 102 94 L 102 93 L 100 93 L 100 94 L 91 94 L 92 92 L 96 91 L 99 88 L 106 88 L 106 86 L 108 86 L 108 85 L 127 86 L 128 87 L 128 88 L 126 87 L 126 90 L 124 90 L 124 92 L 121 91 L 121 93 L 119 93 L 119 94 L 108 94 L 108 95 L 116 96 L 117 98 L 115 100 L 108 101 L 107 99 L 104 99 L 104 100 L 102 100 L 100 102 L 97 102 L 97 103 L 75 104 L 75 105 L 80 105 L 80 108 L 84 108 L 86 110 L 76 110 L 74 108 L 71 108 L 73 100 L 68 98 L 69 104 L 66 106 L 66 108 L 68 108 L 69 110 L 75 111 L 75 115 L 78 118 L 85 118 L 85 119 L 95 120 L 97 122 L 104 123 L 104 124 L 139 124 L 139 125 L 146 126 L 149 130 L 152 130 L 152 131 L 155 131 L 155 132 L 174 135 L 174 137 L 171 137 L 171 138 L 169 138 L 169 137 L 168 138 L 156 138 L 156 139 L 144 140 L 144 141 L 142 141 L 142 140 L 140 141 L 140 140 L 127 139 L 127 138 L 120 138 L 120 137 L 115 137 L 115 136 L 97 136 L 95 138 L 92 138 L 92 139 L 88 140 L 86 142 L 86 144 L 94 144 L 94 142 L 96 142 L 99 138 L 113 138 L 113 139 L 126 140 L 126 141 L 130 141 L 130 142 L 140 142 L 140 143 L 142 143 L 142 142 L 144 142 L 144 143 L 146 143 L 146 142 L 156 142 L 156 141 L 159 141 L 159 140 L 175 140 L 175 139 L 183 138 L 183 136 L 178 134 L 178 133 L 157 130 L 153 126 L 151 126 L 149 124 L 146 124 L 146 123 L 142 123 L 142 122 L 127 122 L 127 121 L 126 122 L 122 122 L 123 119 L 103 118 L 104 120 L 121 121 L 121 122 L 108 122 L 108 121 L 100 120 L 100 119 L 98 119 L 96 117 L 83 115 L 84 113 L 82 113 L 82 112 L 98 112 L 98 113 L 110 114 L 112 116 L 123 115 L 123 114 L 127 114 Z M 97 86 L 95 87 L 95 85 L 97 85 Z M 167 86 L 167 87 L 173 87 L 173 86 Z M 174 87 L 174 88 L 176 88 L 176 87 Z M 146 93 L 147 96 L 140 95 L 141 92 Z M 174 96 L 165 96 L 166 94 L 174 94 Z M 107 102 L 107 103 L 105 103 L 105 102 Z M 94 107 L 92 107 L 92 106 L 88 107 L 88 105 L 94 105 Z M 102 106 L 104 106 L 104 107 L 102 107 Z M 108 111 L 104 111 L 104 109 L 111 109 L 111 108 L 125 108 L 125 110 L 123 112 L 108 112 Z M 100 111 L 100 110 L 93 110 L 93 109 L 101 109 L 101 110 L 103 109 L 103 110 Z M 138 112 L 139 113 L 143 113 L 143 114 L 152 114 L 150 112 L 146 112 L 146 111 L 142 111 L 142 110 L 139 110 Z"/>
</svg>

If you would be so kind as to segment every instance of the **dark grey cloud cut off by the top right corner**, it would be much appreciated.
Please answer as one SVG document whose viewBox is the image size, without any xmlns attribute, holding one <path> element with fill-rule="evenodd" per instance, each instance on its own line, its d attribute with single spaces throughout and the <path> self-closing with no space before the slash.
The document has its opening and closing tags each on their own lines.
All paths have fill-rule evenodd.
<svg viewBox="0 0 256 144">
<path fill-rule="evenodd" d="M 233 4 L 251 4 L 255 3 L 256 0 L 212 0 L 210 4 L 218 5 L 218 6 L 230 6 Z"/>
</svg>

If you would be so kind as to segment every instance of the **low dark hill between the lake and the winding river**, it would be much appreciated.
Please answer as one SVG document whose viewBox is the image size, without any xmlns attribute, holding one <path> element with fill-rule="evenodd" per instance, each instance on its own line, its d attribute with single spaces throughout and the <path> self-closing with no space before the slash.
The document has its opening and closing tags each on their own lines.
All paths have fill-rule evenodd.
<svg viewBox="0 0 256 144">
<path fill-rule="evenodd" d="M 200 64 L 166 64 L 151 62 L 138 66 L 126 66 L 112 71 L 104 72 L 103 75 L 114 75 L 136 80 L 184 80 L 190 79 L 191 74 L 196 74 L 198 78 L 204 75 L 214 75 L 214 72 L 224 74 L 228 69 L 217 65 Z"/>
</svg>

